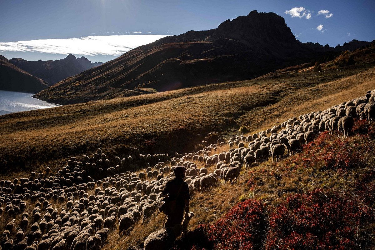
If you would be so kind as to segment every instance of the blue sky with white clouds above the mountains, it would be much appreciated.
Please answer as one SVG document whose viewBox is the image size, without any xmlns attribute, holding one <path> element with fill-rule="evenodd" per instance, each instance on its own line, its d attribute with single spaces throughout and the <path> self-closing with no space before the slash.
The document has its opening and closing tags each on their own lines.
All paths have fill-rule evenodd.
<svg viewBox="0 0 375 250">
<path fill-rule="evenodd" d="M 0 54 L 55 60 L 72 53 L 105 62 L 252 10 L 282 16 L 301 42 L 375 39 L 374 0 L 0 0 Z"/>
</svg>

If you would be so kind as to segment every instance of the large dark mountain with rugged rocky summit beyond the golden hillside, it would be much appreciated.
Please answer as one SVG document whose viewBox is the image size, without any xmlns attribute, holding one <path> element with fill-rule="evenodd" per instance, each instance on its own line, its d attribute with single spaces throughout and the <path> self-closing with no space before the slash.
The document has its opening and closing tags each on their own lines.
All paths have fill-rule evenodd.
<svg viewBox="0 0 375 250">
<path fill-rule="evenodd" d="M 321 51 L 296 40 L 284 18 L 254 10 L 215 29 L 192 30 L 139 46 L 36 96 L 71 104 L 251 79 L 310 62 L 317 55 Z"/>
</svg>

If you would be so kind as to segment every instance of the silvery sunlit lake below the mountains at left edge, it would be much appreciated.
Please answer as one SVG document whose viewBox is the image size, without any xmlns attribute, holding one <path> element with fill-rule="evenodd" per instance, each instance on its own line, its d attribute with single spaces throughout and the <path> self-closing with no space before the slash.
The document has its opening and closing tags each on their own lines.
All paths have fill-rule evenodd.
<svg viewBox="0 0 375 250">
<path fill-rule="evenodd" d="M 61 106 L 31 96 L 31 93 L 0 90 L 0 115 Z"/>
</svg>

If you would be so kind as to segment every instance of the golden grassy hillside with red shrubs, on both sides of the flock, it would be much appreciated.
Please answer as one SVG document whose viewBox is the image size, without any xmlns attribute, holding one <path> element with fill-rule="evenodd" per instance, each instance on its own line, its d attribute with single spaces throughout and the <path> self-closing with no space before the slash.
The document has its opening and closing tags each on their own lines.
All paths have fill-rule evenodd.
<svg viewBox="0 0 375 250">
<path fill-rule="evenodd" d="M 3 115 L 1 179 L 18 177 L 22 183 L 21 177 L 29 178 L 31 171 L 47 177 L 45 167 L 54 175 L 70 157 L 85 162 L 83 155 L 92 156 L 99 147 L 110 159 L 107 166 L 114 164 L 114 156 L 126 156 L 130 147 L 138 147 L 142 154 L 198 151 L 199 146 L 194 146 L 202 139 L 214 140 L 209 132 L 217 131 L 227 139 L 240 135 L 240 126 L 254 133 L 294 116 L 327 109 L 375 88 L 373 50 L 355 51 L 356 64 L 350 66 L 341 61 L 350 55 L 343 54 L 335 59 L 340 65 L 335 61 L 321 64 L 320 72 L 314 66 L 302 65 L 251 81 Z M 374 142 L 374 123 L 356 120 L 347 139 L 321 133 L 299 154 L 284 156 L 278 163 L 267 159 L 250 169 L 243 167 L 233 183 L 219 179 L 208 190 L 195 190 L 190 202 L 195 216 L 189 234 L 177 239 L 175 249 L 374 249 Z M 218 151 L 228 149 L 225 144 Z M 98 166 L 105 164 L 98 159 Z M 216 165 L 195 163 L 208 172 L 216 169 Z M 68 164 L 74 166 L 72 161 Z M 74 168 L 76 177 L 80 170 Z M 93 164 L 87 171 L 96 179 L 110 173 L 93 173 Z M 71 176 L 69 172 L 66 177 Z M 78 177 L 76 181 L 80 183 Z M 5 192 L 12 190 L 4 186 L 10 188 L 11 182 L 1 184 L 6 199 L 10 195 Z M 30 182 L 30 189 L 33 184 L 37 190 L 36 182 Z M 117 192 L 120 186 L 116 182 L 115 186 Z M 95 194 L 97 187 L 104 190 L 107 186 L 92 182 L 87 190 L 78 190 L 81 195 L 74 195 L 69 188 L 66 192 L 79 199 Z M 1 199 L 5 211 L 0 228 L 12 219 L 16 225 L 21 221 L 21 213 L 7 211 L 6 199 Z M 30 215 L 33 202 L 26 199 L 25 211 Z M 58 202 L 51 197 L 50 202 L 58 212 L 66 208 L 73 214 L 66 200 Z M 75 205 L 79 207 L 78 203 Z M 116 222 L 102 249 L 142 249 L 145 238 L 162 227 L 164 218 L 154 213 L 121 237 Z M 25 235 L 31 232 L 31 224 Z"/>
</svg>

